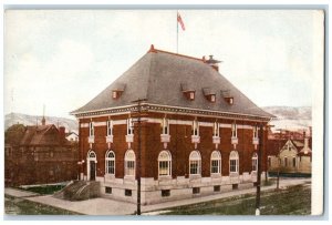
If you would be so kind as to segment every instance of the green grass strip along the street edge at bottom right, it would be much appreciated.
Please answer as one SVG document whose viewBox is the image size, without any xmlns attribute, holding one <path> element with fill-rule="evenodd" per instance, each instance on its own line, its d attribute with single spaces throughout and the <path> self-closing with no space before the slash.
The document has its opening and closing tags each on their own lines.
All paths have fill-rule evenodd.
<svg viewBox="0 0 332 225">
<path fill-rule="evenodd" d="M 261 193 L 261 215 L 310 215 L 311 185 Z M 166 208 L 160 215 L 255 215 L 256 195 L 246 194 L 206 203 Z"/>
</svg>

